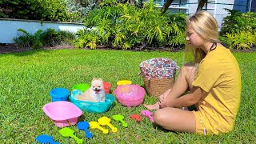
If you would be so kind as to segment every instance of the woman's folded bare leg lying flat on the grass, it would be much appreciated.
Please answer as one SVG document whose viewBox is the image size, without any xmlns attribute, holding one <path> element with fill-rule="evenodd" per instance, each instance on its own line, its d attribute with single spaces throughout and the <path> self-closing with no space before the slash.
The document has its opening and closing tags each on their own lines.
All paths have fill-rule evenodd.
<svg viewBox="0 0 256 144">
<path fill-rule="evenodd" d="M 195 133 L 196 120 L 191 111 L 166 107 L 156 110 L 154 122 L 166 130 Z"/>
</svg>

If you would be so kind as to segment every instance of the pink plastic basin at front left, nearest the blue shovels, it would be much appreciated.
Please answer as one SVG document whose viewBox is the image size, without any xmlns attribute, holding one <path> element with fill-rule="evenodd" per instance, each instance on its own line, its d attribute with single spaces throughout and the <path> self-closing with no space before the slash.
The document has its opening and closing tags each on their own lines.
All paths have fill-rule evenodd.
<svg viewBox="0 0 256 144">
<path fill-rule="evenodd" d="M 78 106 L 66 101 L 47 103 L 42 110 L 58 127 L 75 125 L 78 117 L 82 115 L 82 110 Z"/>
</svg>

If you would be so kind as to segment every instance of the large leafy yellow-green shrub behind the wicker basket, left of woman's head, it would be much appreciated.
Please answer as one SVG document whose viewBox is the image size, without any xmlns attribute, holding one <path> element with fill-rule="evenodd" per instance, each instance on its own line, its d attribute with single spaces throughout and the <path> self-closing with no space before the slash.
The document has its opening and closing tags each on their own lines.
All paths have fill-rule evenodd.
<svg viewBox="0 0 256 144">
<path fill-rule="evenodd" d="M 127 3 L 116 4 L 112 0 L 101 3 L 99 9 L 91 11 L 85 18 L 85 26 L 93 29 L 79 31 L 75 47 L 89 46 L 95 49 L 100 44 L 132 49 L 136 46 L 146 48 L 184 44 L 182 30 L 185 30 L 186 14 L 162 15 L 152 0 L 145 2 L 142 9 Z"/>
</svg>

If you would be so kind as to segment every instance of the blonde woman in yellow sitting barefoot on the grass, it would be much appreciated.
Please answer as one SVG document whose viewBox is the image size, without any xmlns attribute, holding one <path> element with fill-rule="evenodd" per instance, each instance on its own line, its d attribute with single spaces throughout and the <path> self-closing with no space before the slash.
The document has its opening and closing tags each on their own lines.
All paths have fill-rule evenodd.
<svg viewBox="0 0 256 144">
<path fill-rule="evenodd" d="M 241 74 L 230 50 L 218 41 L 218 24 L 202 11 L 186 23 L 186 54 L 194 63 L 182 66 L 171 90 L 154 105 L 154 122 L 166 130 L 220 134 L 233 130 L 241 96 Z M 197 64 L 198 63 L 198 64 Z M 189 93 L 181 96 L 186 91 Z M 196 110 L 181 110 L 186 106 Z"/>
</svg>

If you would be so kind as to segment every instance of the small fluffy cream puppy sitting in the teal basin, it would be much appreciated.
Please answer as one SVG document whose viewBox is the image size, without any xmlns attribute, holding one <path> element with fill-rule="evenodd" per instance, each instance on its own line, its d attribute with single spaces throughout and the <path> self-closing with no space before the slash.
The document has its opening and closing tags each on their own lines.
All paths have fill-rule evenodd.
<svg viewBox="0 0 256 144">
<path fill-rule="evenodd" d="M 76 98 L 80 101 L 106 102 L 102 78 L 93 78 L 90 88 Z"/>
</svg>

